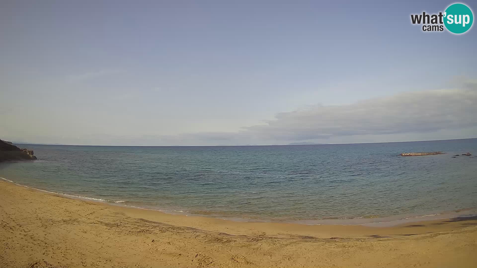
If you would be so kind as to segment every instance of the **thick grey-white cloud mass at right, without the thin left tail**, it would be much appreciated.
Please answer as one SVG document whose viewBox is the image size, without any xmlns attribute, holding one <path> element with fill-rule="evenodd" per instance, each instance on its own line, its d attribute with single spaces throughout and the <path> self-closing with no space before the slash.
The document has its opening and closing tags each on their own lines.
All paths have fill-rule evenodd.
<svg viewBox="0 0 477 268">
<path fill-rule="evenodd" d="M 267 124 L 245 129 L 272 140 L 327 139 L 333 136 L 425 133 L 477 126 L 475 83 L 464 89 L 401 93 L 349 105 L 317 105 L 278 113 Z"/>
</svg>

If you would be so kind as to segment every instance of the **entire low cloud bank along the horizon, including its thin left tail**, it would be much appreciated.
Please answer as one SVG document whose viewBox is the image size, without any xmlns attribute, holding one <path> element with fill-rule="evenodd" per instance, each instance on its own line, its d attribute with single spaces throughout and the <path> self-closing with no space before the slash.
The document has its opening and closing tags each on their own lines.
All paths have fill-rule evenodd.
<svg viewBox="0 0 477 268">
<path fill-rule="evenodd" d="M 83 135 L 74 140 L 54 137 L 48 140 L 50 143 L 97 145 L 244 145 L 310 140 L 353 143 L 470 138 L 476 137 L 476 115 L 477 81 L 474 80 L 461 82 L 454 89 L 399 93 L 347 105 L 309 106 L 277 113 L 273 120 L 236 132 L 103 134 Z"/>
</svg>

